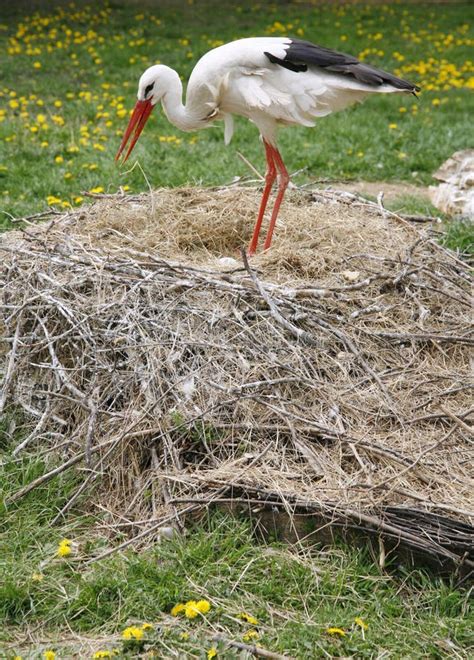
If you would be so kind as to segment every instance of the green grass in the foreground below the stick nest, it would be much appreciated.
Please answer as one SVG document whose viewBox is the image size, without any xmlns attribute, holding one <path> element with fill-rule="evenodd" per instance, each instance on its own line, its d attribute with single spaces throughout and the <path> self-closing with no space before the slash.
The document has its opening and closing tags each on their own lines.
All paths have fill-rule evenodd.
<svg viewBox="0 0 474 660">
<path fill-rule="evenodd" d="M 38 459 L 13 463 L 6 453 L 4 459 L 2 500 L 45 469 Z M 248 522 L 222 515 L 210 516 L 184 538 L 86 566 L 109 545 L 92 518 L 75 511 L 71 522 L 50 525 L 73 486 L 74 479 L 63 476 L 1 510 L 1 657 L 45 648 L 69 657 L 71 647 L 61 637 L 71 631 L 103 640 L 101 648 L 122 648 L 117 635 L 143 622 L 154 626 L 147 648 L 159 657 L 170 657 L 166 648 L 180 657 L 203 657 L 215 631 L 242 641 L 251 627 L 238 619 L 242 611 L 258 619 L 260 645 L 295 658 L 441 658 L 450 649 L 456 657 L 469 655 L 467 592 L 421 572 L 381 572 L 360 550 L 265 545 Z M 78 544 L 69 559 L 56 557 L 64 537 Z M 171 619 L 171 608 L 189 599 L 209 600 L 210 613 Z M 364 633 L 356 617 L 368 624 Z M 345 636 L 328 634 L 331 627 Z M 27 631 L 50 641 L 15 644 Z M 234 656 L 226 651 L 222 657 Z"/>
</svg>

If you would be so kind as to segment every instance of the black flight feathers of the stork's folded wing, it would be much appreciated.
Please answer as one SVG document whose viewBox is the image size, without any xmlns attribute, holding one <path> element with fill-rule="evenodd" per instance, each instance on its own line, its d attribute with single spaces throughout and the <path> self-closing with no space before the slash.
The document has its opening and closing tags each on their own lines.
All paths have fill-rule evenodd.
<svg viewBox="0 0 474 660">
<path fill-rule="evenodd" d="M 420 88 L 413 83 L 397 78 L 387 71 L 382 71 L 382 69 L 376 69 L 369 64 L 363 64 L 353 55 L 346 55 L 345 53 L 339 53 L 337 50 L 317 46 L 310 41 L 291 39 L 286 47 L 284 58 L 278 58 L 268 52 L 265 52 L 265 55 L 273 64 L 278 64 L 290 71 L 307 71 L 308 66 L 316 66 L 331 73 L 350 76 L 365 85 L 374 87 L 391 85 L 396 89 L 406 89 L 413 93 L 420 91 Z"/>
</svg>

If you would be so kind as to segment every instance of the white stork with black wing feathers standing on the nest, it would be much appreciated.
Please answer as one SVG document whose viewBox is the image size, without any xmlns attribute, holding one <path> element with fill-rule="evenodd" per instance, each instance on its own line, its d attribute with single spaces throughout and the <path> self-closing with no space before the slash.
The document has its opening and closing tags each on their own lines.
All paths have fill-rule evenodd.
<svg viewBox="0 0 474 660">
<path fill-rule="evenodd" d="M 168 120 L 183 131 L 195 131 L 222 119 L 225 143 L 233 134 L 233 114 L 250 119 L 260 131 L 267 159 L 262 201 L 249 254 L 257 249 L 263 216 L 273 183 L 279 187 L 264 250 L 270 247 L 289 175 L 277 149 L 279 126 L 314 126 L 319 117 L 361 101 L 368 94 L 416 95 L 419 87 L 391 73 L 359 62 L 352 55 L 283 37 L 239 39 L 219 46 L 198 61 L 189 78 L 186 105 L 183 86 L 173 69 L 151 66 L 138 83 L 138 101 L 116 159 L 133 134 L 129 157 L 154 106 L 161 101 Z"/>
</svg>

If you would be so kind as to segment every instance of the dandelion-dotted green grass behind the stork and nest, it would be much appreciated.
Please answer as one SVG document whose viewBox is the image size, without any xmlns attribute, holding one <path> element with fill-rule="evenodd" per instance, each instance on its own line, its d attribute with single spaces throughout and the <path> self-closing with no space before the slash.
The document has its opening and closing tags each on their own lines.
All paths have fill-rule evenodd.
<svg viewBox="0 0 474 660">
<path fill-rule="evenodd" d="M 160 60 L 186 79 L 217 40 L 300 36 L 397 70 L 423 86 L 419 101 L 410 96 L 372 98 L 322 119 L 312 130 L 281 131 L 290 171 L 306 168 L 299 182 L 328 177 L 426 184 L 449 155 L 469 146 L 474 110 L 471 3 L 340 7 L 244 1 L 228 7 L 217 0 L 99 0 L 93 5 L 78 2 L 75 8 L 53 2 L 35 6 L 42 7 L 37 14 L 21 0 L 0 7 L 4 228 L 11 226 L 11 216 L 44 210 L 51 195 L 61 207 L 79 204 L 75 200 L 83 197 L 82 191 L 97 187 L 146 189 L 138 168 L 120 171 L 113 160 L 138 78 Z M 136 158 L 153 187 L 223 184 L 248 174 L 237 150 L 263 171 L 254 126 L 238 120 L 228 148 L 222 132 L 217 124 L 181 134 L 158 110 L 139 141 Z M 160 141 L 160 136 L 169 141 Z"/>
</svg>

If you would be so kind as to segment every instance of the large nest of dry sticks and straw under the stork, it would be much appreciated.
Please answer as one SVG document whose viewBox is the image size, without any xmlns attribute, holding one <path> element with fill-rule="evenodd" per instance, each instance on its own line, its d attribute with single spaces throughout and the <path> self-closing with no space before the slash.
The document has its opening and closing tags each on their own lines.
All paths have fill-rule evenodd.
<svg viewBox="0 0 474 660">
<path fill-rule="evenodd" d="M 115 547 L 212 505 L 472 570 L 467 266 L 331 191 L 291 192 L 249 261 L 258 204 L 104 195 L 4 237 L 0 410 L 49 461 L 12 500 L 76 470 L 56 520 L 96 508 Z"/>
</svg>

